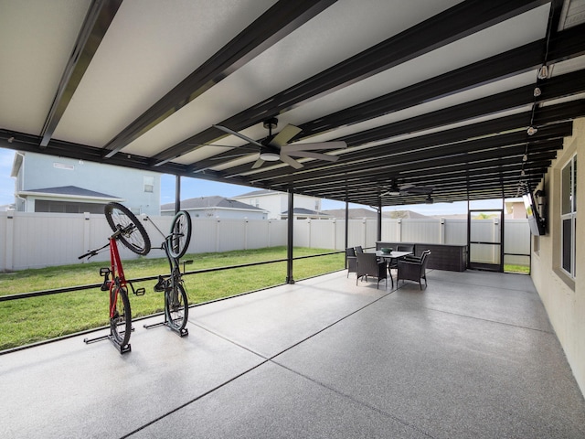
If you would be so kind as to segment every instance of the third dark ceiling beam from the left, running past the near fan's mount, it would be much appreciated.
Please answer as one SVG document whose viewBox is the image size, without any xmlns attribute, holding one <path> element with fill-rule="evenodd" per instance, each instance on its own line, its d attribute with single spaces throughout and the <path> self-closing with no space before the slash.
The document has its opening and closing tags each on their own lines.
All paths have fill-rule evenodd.
<svg viewBox="0 0 585 439">
<path fill-rule="evenodd" d="M 388 70 L 546 3 L 548 2 L 545 0 L 465 1 L 219 124 L 235 131 L 243 130 L 268 117 L 286 112 L 302 102 L 311 102 L 324 94 L 367 79 L 380 71 Z M 223 135 L 217 129 L 208 128 L 155 155 L 152 165 L 160 166 L 197 149 L 194 145 L 216 141 Z"/>
</svg>

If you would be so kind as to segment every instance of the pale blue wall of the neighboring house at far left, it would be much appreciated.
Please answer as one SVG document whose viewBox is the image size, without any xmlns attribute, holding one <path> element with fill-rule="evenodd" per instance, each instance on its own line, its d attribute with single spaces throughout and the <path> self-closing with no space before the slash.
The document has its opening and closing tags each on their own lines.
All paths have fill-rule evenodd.
<svg viewBox="0 0 585 439">
<path fill-rule="evenodd" d="M 81 187 L 121 198 L 134 213 L 160 214 L 160 174 L 127 167 L 82 162 L 64 157 L 35 153 L 17 153 L 16 194 L 48 187 Z M 24 159 L 23 159 L 24 155 Z M 19 163 L 18 163 L 19 162 Z M 16 198 L 16 210 L 35 211 L 37 199 L 63 200 L 46 196 Z M 76 199 L 73 202 L 101 203 L 104 200 Z"/>
</svg>

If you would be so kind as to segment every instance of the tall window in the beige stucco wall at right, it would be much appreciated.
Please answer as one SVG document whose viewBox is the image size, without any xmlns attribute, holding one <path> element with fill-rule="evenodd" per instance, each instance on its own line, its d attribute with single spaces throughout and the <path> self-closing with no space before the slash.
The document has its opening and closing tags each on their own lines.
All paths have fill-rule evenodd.
<svg viewBox="0 0 585 439">
<path fill-rule="evenodd" d="M 577 155 L 563 167 L 560 174 L 561 267 L 575 277 L 577 227 Z"/>
</svg>

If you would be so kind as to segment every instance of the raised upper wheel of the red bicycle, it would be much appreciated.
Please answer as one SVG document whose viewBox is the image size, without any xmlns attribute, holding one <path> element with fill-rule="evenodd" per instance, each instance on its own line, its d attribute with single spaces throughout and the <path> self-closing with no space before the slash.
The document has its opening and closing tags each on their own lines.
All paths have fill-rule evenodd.
<svg viewBox="0 0 585 439">
<path fill-rule="evenodd" d="M 122 230 L 118 236 L 122 244 L 137 254 L 150 252 L 150 238 L 142 223 L 120 203 L 108 203 L 104 209 L 108 224 L 113 231 Z"/>
</svg>

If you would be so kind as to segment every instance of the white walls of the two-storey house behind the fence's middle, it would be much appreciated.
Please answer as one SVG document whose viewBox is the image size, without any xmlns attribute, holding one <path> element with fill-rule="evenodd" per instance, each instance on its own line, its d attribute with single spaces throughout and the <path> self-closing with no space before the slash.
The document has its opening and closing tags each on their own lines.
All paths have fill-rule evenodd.
<svg viewBox="0 0 585 439">
<path fill-rule="evenodd" d="M 285 192 L 273 190 L 258 190 L 238 197 L 232 197 L 242 203 L 250 204 L 260 209 L 268 210 L 268 219 L 282 219 L 282 212 L 289 209 L 289 196 Z M 321 210 L 321 199 L 306 195 L 294 195 L 294 208 Z"/>
</svg>

